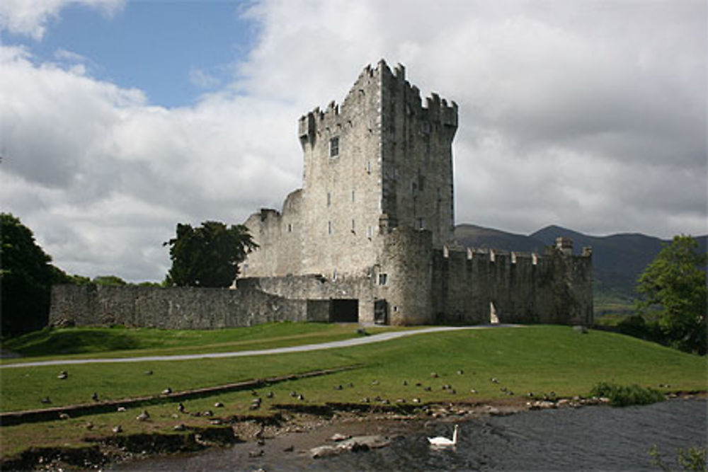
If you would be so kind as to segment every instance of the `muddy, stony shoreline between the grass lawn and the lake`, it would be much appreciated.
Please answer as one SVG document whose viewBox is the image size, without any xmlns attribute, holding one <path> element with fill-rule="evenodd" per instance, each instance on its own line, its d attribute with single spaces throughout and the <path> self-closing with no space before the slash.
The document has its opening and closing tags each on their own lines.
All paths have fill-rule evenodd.
<svg viewBox="0 0 708 472">
<path fill-rule="evenodd" d="M 667 398 L 705 397 L 671 393 Z M 86 470 L 105 468 L 162 454 L 194 453 L 215 447 L 244 448 L 263 454 L 309 454 L 313 458 L 386 447 L 396 425 L 463 422 L 527 410 L 605 405 L 603 398 L 505 398 L 498 401 L 426 405 L 278 405 L 272 415 L 219 418 L 220 425 L 185 428 L 168 434 L 113 434 L 79 447 L 31 448 L 0 461 L 1 470 Z"/>
</svg>

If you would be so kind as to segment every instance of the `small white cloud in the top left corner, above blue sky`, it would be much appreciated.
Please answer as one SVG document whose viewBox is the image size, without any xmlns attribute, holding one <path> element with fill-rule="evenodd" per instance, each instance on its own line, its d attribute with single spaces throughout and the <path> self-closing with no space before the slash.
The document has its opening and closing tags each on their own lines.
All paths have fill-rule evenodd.
<svg viewBox="0 0 708 472">
<path fill-rule="evenodd" d="M 125 5 L 125 0 L 3 0 L 0 2 L 0 30 L 41 40 L 47 23 L 59 18 L 59 11 L 70 4 L 96 8 L 110 16 Z"/>
</svg>

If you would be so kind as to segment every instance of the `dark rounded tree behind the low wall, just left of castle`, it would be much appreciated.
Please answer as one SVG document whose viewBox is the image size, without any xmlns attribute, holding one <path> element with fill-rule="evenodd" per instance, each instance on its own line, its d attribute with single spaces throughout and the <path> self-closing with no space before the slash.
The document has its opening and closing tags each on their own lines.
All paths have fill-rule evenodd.
<svg viewBox="0 0 708 472">
<path fill-rule="evenodd" d="M 178 287 L 229 287 L 239 273 L 239 263 L 258 248 L 246 226 L 228 227 L 219 221 L 205 221 L 193 228 L 177 225 L 177 237 L 170 246 L 172 268 L 166 285 Z"/>
</svg>

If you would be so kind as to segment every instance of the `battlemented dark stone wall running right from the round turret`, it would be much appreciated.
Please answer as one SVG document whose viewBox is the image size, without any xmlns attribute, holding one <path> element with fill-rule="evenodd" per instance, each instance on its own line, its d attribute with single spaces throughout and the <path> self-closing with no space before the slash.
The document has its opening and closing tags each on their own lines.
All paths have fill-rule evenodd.
<svg viewBox="0 0 708 472">
<path fill-rule="evenodd" d="M 435 251 L 432 285 L 435 323 L 593 322 L 589 254 Z"/>
</svg>

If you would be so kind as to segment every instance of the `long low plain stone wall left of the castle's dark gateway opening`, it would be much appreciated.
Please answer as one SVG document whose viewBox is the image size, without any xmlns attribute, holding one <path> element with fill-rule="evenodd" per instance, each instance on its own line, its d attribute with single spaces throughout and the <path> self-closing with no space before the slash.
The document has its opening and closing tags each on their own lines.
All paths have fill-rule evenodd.
<svg viewBox="0 0 708 472">
<path fill-rule="evenodd" d="M 309 321 L 307 301 L 256 289 L 52 287 L 52 325 L 217 329 L 272 321 Z"/>
</svg>

